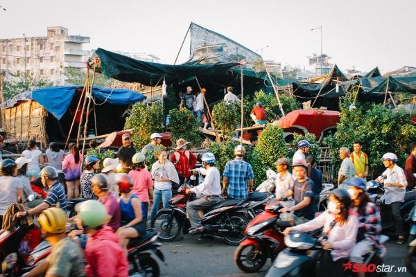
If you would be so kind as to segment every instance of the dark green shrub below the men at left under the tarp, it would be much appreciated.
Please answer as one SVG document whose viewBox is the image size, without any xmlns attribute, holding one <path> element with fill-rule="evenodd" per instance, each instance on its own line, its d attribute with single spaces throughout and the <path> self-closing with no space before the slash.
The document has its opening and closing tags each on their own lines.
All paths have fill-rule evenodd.
<svg viewBox="0 0 416 277">
<path fill-rule="evenodd" d="M 172 132 L 172 143 L 181 138 L 189 141 L 193 146 L 200 145 L 202 142 L 198 131 L 198 127 L 200 127 L 198 118 L 188 109 L 171 109 L 168 127 Z"/>
</svg>

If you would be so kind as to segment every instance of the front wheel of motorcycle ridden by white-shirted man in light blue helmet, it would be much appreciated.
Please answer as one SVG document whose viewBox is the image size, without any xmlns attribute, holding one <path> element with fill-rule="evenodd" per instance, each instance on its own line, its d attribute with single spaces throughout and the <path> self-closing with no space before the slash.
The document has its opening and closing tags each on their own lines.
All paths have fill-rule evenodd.
<svg viewBox="0 0 416 277">
<path fill-rule="evenodd" d="M 171 224 L 169 224 L 171 220 Z M 152 222 L 152 228 L 155 228 L 159 232 L 159 240 L 162 242 L 171 242 L 180 235 L 182 226 L 180 225 L 180 219 L 177 216 L 171 215 L 171 213 L 159 213 L 156 215 Z"/>
</svg>

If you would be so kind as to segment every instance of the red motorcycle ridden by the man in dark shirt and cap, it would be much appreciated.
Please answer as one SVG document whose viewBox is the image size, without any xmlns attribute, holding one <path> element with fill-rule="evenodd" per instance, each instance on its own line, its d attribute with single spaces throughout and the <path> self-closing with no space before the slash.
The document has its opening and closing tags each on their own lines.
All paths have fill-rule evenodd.
<svg viewBox="0 0 416 277">
<path fill-rule="evenodd" d="M 264 211 L 254 217 L 245 228 L 247 238 L 234 252 L 234 262 L 241 271 L 247 273 L 259 271 L 268 258 L 274 260 L 286 247 L 281 232 L 291 224 L 279 220 L 281 208 L 277 199 L 271 199 Z"/>
</svg>

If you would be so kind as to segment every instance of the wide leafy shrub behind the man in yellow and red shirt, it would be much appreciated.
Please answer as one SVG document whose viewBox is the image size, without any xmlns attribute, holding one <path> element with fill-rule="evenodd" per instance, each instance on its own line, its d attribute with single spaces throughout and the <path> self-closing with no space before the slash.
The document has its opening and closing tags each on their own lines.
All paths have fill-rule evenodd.
<svg viewBox="0 0 416 277">
<path fill-rule="evenodd" d="M 349 111 L 349 102 L 340 103 L 340 123 L 333 136 L 324 139 L 323 144 L 331 148 L 331 156 L 339 168 L 338 151 L 348 147 L 351 151 L 354 141 L 363 143 L 363 151 L 368 154 L 370 169 L 375 175 L 385 168 L 380 159 L 385 152 L 393 152 L 399 157 L 399 166 L 404 166 L 410 142 L 416 140 L 416 126 L 407 111 L 392 111 L 382 105 L 361 105 Z"/>
</svg>

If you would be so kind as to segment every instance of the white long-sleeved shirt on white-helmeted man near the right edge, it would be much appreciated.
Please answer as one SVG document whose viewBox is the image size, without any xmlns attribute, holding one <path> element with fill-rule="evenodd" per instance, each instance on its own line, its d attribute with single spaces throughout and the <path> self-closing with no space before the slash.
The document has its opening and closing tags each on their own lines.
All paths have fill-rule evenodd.
<svg viewBox="0 0 416 277">
<path fill-rule="evenodd" d="M 391 170 L 386 169 L 380 179 L 383 176 L 387 177 L 384 179 L 384 184 L 401 184 L 404 188 L 397 188 L 396 186 L 384 186 L 384 202 L 385 204 L 392 204 L 393 202 L 404 202 L 404 195 L 406 194 L 407 181 L 404 176 L 404 170 L 399 166 L 395 165 Z"/>
</svg>

